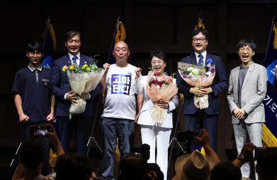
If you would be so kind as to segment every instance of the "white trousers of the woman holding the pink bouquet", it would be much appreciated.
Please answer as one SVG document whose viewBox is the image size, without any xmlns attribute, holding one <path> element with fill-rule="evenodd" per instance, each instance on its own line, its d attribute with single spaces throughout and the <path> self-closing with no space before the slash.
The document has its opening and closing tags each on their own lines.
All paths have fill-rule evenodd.
<svg viewBox="0 0 277 180">
<path fill-rule="evenodd" d="M 171 128 L 159 127 L 156 125 L 141 125 L 142 144 L 150 146 L 150 158 L 148 163 L 156 163 L 156 139 L 157 139 L 157 164 L 164 173 L 164 180 L 167 178 L 168 146 Z"/>
</svg>

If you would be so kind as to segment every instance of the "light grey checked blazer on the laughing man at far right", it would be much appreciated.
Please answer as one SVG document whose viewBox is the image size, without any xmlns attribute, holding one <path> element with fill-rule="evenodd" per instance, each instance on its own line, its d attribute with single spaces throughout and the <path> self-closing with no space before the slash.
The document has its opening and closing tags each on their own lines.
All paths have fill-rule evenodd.
<svg viewBox="0 0 277 180">
<path fill-rule="evenodd" d="M 229 77 L 227 100 L 232 114 L 235 108 L 239 108 L 237 82 L 240 66 L 232 69 Z M 241 107 L 247 113 L 245 118 L 246 123 L 265 122 L 263 100 L 267 93 L 267 81 L 268 74 L 266 68 L 252 61 L 241 88 Z M 233 114 L 232 124 L 237 123 L 239 123 L 239 120 L 235 119 Z"/>
</svg>

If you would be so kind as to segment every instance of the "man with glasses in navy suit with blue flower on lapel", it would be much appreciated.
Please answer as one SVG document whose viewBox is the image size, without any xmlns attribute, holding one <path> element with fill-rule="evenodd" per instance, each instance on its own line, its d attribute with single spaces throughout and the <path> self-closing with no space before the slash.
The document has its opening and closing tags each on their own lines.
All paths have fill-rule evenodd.
<svg viewBox="0 0 277 180">
<path fill-rule="evenodd" d="M 183 58 L 181 62 L 191 63 L 195 65 L 215 65 L 216 76 L 210 87 L 198 88 L 188 85 L 177 72 L 178 92 L 184 95 L 183 114 L 185 116 L 186 130 L 195 131 L 196 126 L 206 129 L 210 135 L 211 147 L 217 153 L 217 137 L 218 137 L 218 117 L 220 114 L 220 97 L 228 87 L 228 80 L 224 64 L 220 57 L 207 53 L 209 32 L 206 29 L 199 28 L 191 33 L 192 47 L 195 51 L 191 56 Z M 206 109 L 196 108 L 194 105 L 194 96 L 209 96 L 209 107 Z M 192 143 L 191 149 L 196 149 L 196 143 Z"/>
</svg>

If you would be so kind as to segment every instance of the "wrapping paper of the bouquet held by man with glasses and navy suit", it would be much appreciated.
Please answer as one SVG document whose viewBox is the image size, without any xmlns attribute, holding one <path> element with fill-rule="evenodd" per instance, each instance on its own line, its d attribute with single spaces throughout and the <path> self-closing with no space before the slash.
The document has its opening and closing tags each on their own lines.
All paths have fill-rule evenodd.
<svg viewBox="0 0 277 180">
<path fill-rule="evenodd" d="M 201 67 L 194 65 L 194 64 L 178 62 L 178 68 L 186 67 L 186 69 L 187 69 L 187 68 L 191 67 L 192 65 L 196 69 L 201 69 Z M 215 69 L 215 65 L 213 65 L 211 68 Z M 213 83 L 214 77 L 216 75 L 216 71 L 214 73 L 209 71 L 209 72 L 205 73 L 205 74 L 209 75 L 208 77 L 205 74 L 200 75 L 200 76 L 196 76 L 193 74 L 189 74 L 189 75 L 185 74 L 186 75 L 186 78 L 185 78 L 185 77 L 183 77 L 181 70 L 178 69 L 178 71 L 180 73 L 180 76 L 186 81 L 186 83 L 188 83 L 192 87 L 199 86 L 199 85 L 201 85 L 202 87 L 210 86 Z M 205 95 L 203 97 L 198 97 L 198 96 L 194 95 L 194 105 L 196 106 L 196 108 L 200 108 L 200 109 L 208 108 L 209 107 L 208 97 L 209 97 L 208 95 Z"/>
</svg>

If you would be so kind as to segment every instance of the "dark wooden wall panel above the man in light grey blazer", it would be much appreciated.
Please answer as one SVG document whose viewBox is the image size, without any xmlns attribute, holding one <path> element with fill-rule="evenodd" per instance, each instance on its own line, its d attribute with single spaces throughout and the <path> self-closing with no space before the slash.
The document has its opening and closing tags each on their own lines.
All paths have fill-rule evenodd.
<svg viewBox="0 0 277 180">
<path fill-rule="evenodd" d="M 242 39 L 252 39 L 257 47 L 267 46 L 271 22 L 268 3 L 228 4 L 226 45 L 236 46 Z M 257 53 L 265 52 L 258 48 Z"/>
</svg>

